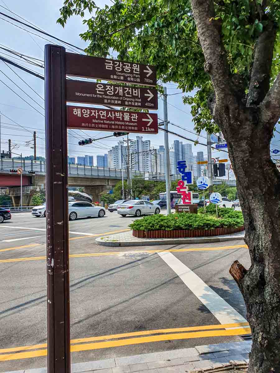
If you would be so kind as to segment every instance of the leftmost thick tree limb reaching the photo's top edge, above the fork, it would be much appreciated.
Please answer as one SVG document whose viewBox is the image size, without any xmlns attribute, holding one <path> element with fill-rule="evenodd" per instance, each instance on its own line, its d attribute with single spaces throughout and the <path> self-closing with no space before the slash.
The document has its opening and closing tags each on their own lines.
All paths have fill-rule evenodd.
<svg viewBox="0 0 280 373">
<path fill-rule="evenodd" d="M 211 76 L 217 95 L 233 93 L 227 55 L 221 40 L 221 25 L 214 19 L 211 0 L 191 0 L 199 41 L 205 57 L 204 69 Z"/>
</svg>

